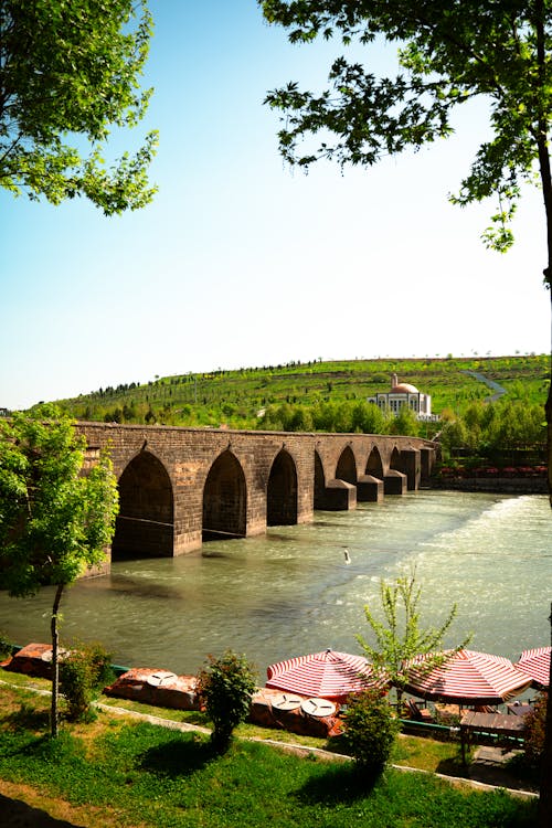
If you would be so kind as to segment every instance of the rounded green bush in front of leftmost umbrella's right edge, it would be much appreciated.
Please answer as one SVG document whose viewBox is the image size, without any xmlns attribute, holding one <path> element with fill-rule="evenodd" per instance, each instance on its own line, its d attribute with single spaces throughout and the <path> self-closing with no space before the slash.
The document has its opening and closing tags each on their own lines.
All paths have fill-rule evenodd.
<svg viewBox="0 0 552 828">
<path fill-rule="evenodd" d="M 369 779 L 384 769 L 399 732 L 391 707 L 378 690 L 355 693 L 349 699 L 343 741 L 359 768 Z"/>
</svg>

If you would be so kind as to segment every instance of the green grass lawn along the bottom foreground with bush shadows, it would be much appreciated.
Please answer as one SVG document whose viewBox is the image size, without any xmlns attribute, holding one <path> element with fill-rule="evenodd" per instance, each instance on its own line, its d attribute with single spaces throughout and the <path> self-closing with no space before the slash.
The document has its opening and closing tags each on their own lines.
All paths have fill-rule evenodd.
<svg viewBox="0 0 552 828">
<path fill-rule="evenodd" d="M 244 739 L 217 757 L 203 733 L 105 710 L 91 724 L 64 724 L 52 741 L 47 708 L 46 696 L 0 684 L 0 793 L 91 828 L 529 828 L 535 822 L 535 800 L 505 792 L 457 788 L 431 774 L 392 768 L 371 786 L 351 762 L 322 761 L 315 752 L 305 758 Z M 399 755 L 413 752 L 410 741 L 400 740 Z M 456 751 L 456 745 L 434 744 L 442 752 L 438 761 Z M 435 761 L 426 758 L 429 765 Z"/>
</svg>

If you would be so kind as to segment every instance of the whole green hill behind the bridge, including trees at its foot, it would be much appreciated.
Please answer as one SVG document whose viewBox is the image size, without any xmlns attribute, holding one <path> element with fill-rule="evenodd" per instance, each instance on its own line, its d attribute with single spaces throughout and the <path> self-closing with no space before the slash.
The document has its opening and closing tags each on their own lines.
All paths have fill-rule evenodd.
<svg viewBox="0 0 552 828">
<path fill-rule="evenodd" d="M 498 383 L 503 396 L 473 373 Z M 408 411 L 392 417 L 367 399 L 389 391 L 391 375 L 432 395 L 440 422 Z M 550 382 L 548 354 L 513 357 L 373 359 L 217 369 L 121 383 L 57 401 L 77 420 L 286 432 L 362 432 L 439 436 L 447 455 L 538 445 Z"/>
</svg>

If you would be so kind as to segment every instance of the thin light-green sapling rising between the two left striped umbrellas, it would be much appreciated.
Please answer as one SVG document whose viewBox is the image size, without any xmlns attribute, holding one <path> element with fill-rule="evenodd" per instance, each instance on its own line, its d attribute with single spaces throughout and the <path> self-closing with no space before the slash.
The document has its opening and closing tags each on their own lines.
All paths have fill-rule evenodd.
<svg viewBox="0 0 552 828">
<path fill-rule="evenodd" d="M 432 670 L 446 658 L 466 647 L 470 636 L 448 656 L 443 655 L 443 638 L 456 617 L 456 604 L 440 627 L 420 627 L 420 598 L 422 587 L 416 585 L 415 569 L 408 576 L 397 577 L 394 584 L 380 582 L 380 601 L 384 622 L 379 620 L 368 605 L 364 615 L 375 637 L 375 646 L 368 644 L 361 635 L 357 640 L 364 650 L 376 672 L 382 673 L 396 690 L 397 708 L 401 709 L 402 694 L 410 679 L 410 661 L 414 656 L 425 655 L 425 669 Z M 420 665 L 416 665 L 420 675 Z"/>
</svg>

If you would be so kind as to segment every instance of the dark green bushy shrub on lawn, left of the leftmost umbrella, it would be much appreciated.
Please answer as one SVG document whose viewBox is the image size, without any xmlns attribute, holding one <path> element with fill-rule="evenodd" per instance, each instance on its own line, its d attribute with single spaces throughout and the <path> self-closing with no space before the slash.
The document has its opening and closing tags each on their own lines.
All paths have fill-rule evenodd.
<svg viewBox="0 0 552 828">
<path fill-rule="evenodd" d="M 209 657 L 198 676 L 198 693 L 214 729 L 211 742 L 217 753 L 225 753 L 232 733 L 245 721 L 256 688 L 256 676 L 245 656 L 226 650 L 221 658 Z"/>
</svg>

